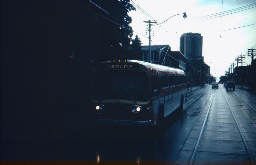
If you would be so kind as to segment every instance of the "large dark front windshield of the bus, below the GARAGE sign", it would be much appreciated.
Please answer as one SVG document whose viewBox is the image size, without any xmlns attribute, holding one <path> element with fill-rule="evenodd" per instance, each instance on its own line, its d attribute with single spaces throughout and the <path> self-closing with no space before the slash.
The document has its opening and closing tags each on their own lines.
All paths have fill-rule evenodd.
<svg viewBox="0 0 256 165">
<path fill-rule="evenodd" d="M 94 74 L 94 100 L 121 99 L 146 102 L 149 97 L 149 75 L 144 71 L 104 70 Z"/>
</svg>

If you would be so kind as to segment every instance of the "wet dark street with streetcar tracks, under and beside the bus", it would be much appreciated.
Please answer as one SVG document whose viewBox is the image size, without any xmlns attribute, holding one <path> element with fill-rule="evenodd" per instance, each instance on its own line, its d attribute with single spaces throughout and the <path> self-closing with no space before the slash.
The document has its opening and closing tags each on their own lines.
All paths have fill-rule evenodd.
<svg viewBox="0 0 256 165">
<path fill-rule="evenodd" d="M 165 118 L 162 131 L 84 122 L 86 125 L 59 136 L 53 130 L 55 137 L 31 140 L 30 147 L 26 147 L 29 139 L 14 151 L 4 143 L 1 160 L 246 164 L 256 159 L 255 109 L 256 96 L 245 90 L 226 91 L 221 84 L 219 89 L 206 85 L 188 92 L 183 111 Z"/>
</svg>

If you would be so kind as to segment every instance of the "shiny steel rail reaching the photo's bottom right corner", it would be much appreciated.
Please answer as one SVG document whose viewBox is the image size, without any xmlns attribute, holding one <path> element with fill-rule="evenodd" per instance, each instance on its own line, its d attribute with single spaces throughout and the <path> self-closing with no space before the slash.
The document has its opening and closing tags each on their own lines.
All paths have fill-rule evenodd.
<svg viewBox="0 0 256 165">
<path fill-rule="evenodd" d="M 247 142 L 246 142 L 246 140 L 245 140 L 244 134 L 243 134 L 243 132 L 242 132 L 242 129 L 241 129 L 240 126 L 239 126 L 239 123 L 238 123 L 238 121 L 237 121 L 237 119 L 236 119 L 235 113 L 234 113 L 233 109 L 231 108 L 231 106 L 230 106 L 230 104 L 229 104 L 229 102 L 228 102 L 228 98 L 226 97 L 225 93 L 223 93 L 223 95 L 224 95 L 224 97 L 225 97 L 225 99 L 226 99 L 226 101 L 227 101 L 227 103 L 228 103 L 228 107 L 229 107 L 229 109 L 230 109 L 230 111 L 231 111 L 231 114 L 232 114 L 232 116 L 233 116 L 233 118 L 234 118 L 234 120 L 235 120 L 235 122 L 236 122 L 236 126 L 237 126 L 237 128 L 238 128 L 239 135 L 240 135 L 241 140 L 242 140 L 242 142 L 243 142 L 245 152 L 246 152 L 246 154 L 250 157 L 250 160 L 251 160 L 252 164 L 255 165 L 255 161 L 254 161 L 254 158 L 253 158 L 253 156 L 252 156 L 251 150 L 250 150 L 250 148 L 249 148 L 249 146 L 248 146 L 248 144 L 247 144 Z M 238 98 L 239 98 L 239 97 L 238 97 Z M 241 99 L 241 98 L 240 98 L 240 99 Z M 251 106 L 250 106 L 250 107 L 251 107 Z"/>
</svg>

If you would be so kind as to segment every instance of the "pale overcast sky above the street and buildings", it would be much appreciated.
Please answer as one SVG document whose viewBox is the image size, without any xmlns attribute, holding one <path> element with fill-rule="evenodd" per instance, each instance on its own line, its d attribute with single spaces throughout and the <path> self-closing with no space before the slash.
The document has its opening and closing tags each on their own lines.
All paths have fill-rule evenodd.
<svg viewBox="0 0 256 165">
<path fill-rule="evenodd" d="M 238 55 L 247 54 L 248 48 L 256 44 L 256 25 L 252 25 L 256 24 L 256 0 L 132 0 L 131 3 L 137 4 L 156 19 L 157 23 L 186 12 L 186 19 L 181 14 L 168 19 L 160 27 L 153 26 L 151 45 L 170 44 L 172 51 L 179 51 L 180 36 L 183 33 L 201 33 L 204 61 L 211 67 L 211 74 L 217 78 L 225 75 L 225 71 L 232 62 L 235 62 Z M 134 31 L 132 38 L 138 35 L 142 45 L 148 45 L 148 32 L 146 31 L 148 23 L 143 21 L 154 19 L 140 11 L 138 7 L 136 8 L 136 11 L 129 12 L 132 17 L 130 25 Z M 229 12 L 230 10 L 232 12 Z M 220 13 L 220 15 L 214 17 L 220 17 L 207 16 L 215 13 Z M 250 63 L 251 58 L 246 55 L 246 64 Z"/>
</svg>

